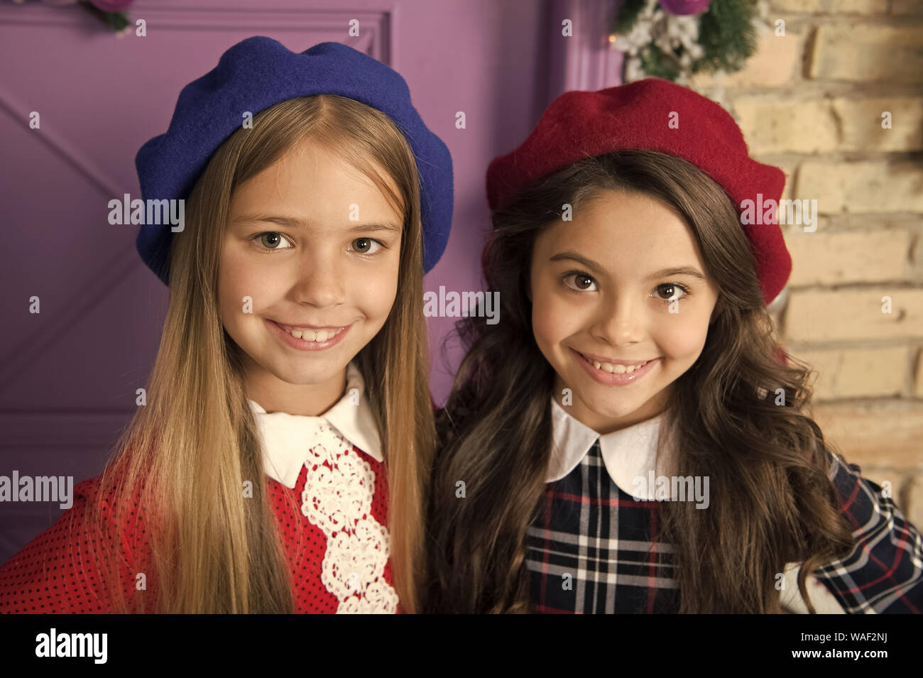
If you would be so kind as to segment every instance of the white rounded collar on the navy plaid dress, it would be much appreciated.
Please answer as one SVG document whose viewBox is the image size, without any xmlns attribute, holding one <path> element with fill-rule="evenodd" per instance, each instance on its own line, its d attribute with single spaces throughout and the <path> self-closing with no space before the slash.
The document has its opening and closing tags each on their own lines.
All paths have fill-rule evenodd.
<svg viewBox="0 0 923 678">
<path fill-rule="evenodd" d="M 657 440 L 660 437 L 661 424 L 665 421 L 665 413 L 620 431 L 600 435 L 575 419 L 560 406 L 554 396 L 551 397 L 551 403 L 554 446 L 545 482 L 559 481 L 576 469 L 598 438 L 605 470 L 608 471 L 612 482 L 623 492 L 633 496 L 655 498 L 653 483 L 636 485 L 635 478 L 641 476 L 646 481 L 651 470 L 655 476 L 665 475 L 669 450 L 664 450 L 665 458 L 662 458 L 657 469 L 654 469 Z"/>
</svg>

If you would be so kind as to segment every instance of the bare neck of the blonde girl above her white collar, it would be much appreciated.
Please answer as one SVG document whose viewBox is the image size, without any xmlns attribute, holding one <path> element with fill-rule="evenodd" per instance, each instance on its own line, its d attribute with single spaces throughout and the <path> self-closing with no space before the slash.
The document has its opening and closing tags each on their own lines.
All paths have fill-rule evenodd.
<svg viewBox="0 0 923 678">
<path fill-rule="evenodd" d="M 346 390 L 346 369 L 322 384 L 289 384 L 259 367 L 248 365 L 244 391 L 267 412 L 318 417 L 330 410 Z"/>
</svg>

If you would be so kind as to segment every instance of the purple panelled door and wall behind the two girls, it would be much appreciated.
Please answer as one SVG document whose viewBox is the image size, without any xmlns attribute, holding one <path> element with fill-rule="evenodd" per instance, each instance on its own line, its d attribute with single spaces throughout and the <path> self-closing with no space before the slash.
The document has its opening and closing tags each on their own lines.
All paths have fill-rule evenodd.
<svg viewBox="0 0 923 678">
<path fill-rule="evenodd" d="M 138 227 L 110 226 L 107 203 L 139 195 L 134 158 L 165 131 L 179 89 L 229 46 L 268 35 L 303 51 L 337 41 L 408 81 L 452 154 L 455 211 L 426 290 L 483 289 L 489 161 L 528 134 L 564 89 L 617 84 L 605 49 L 609 3 L 517 0 L 138 0 L 147 36 L 124 38 L 77 6 L 0 2 L 0 475 L 102 470 L 157 351 L 167 291 L 135 251 Z M 358 18 L 362 38 L 347 35 Z M 571 18 L 574 37 L 561 37 Z M 41 115 L 31 129 L 30 112 Z M 466 129 L 455 128 L 464 111 Z M 29 312 L 30 297 L 41 314 Z M 461 356 L 442 351 L 453 318 L 431 318 L 432 388 L 442 403 Z M 0 504 L 0 564 L 61 514 Z"/>
</svg>

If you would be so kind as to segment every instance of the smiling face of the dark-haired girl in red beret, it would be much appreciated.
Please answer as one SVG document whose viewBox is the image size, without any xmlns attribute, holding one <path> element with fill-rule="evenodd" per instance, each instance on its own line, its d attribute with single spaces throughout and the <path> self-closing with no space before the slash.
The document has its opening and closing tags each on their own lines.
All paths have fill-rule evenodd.
<svg viewBox="0 0 923 678">
<path fill-rule="evenodd" d="M 565 409 L 606 434 L 665 409 L 671 384 L 701 353 L 718 291 L 676 211 L 606 190 L 535 239 L 530 298 L 557 401 L 569 388 Z M 615 366 L 645 361 L 630 373 Z"/>
</svg>

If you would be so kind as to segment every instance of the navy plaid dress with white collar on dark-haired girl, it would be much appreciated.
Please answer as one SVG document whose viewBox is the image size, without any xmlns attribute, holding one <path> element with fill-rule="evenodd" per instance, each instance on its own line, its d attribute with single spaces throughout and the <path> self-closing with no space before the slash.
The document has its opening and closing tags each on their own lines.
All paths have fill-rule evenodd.
<svg viewBox="0 0 923 678">
<path fill-rule="evenodd" d="M 533 612 L 676 613 L 673 550 L 653 543 L 660 505 L 650 488 L 637 500 L 645 493 L 633 482 L 648 477 L 663 415 L 600 436 L 552 401 L 549 482 L 526 538 Z M 857 543 L 814 571 L 818 612 L 923 612 L 920 532 L 855 464 L 831 455 L 830 477 Z M 782 599 L 800 611 L 790 565 Z"/>
</svg>

